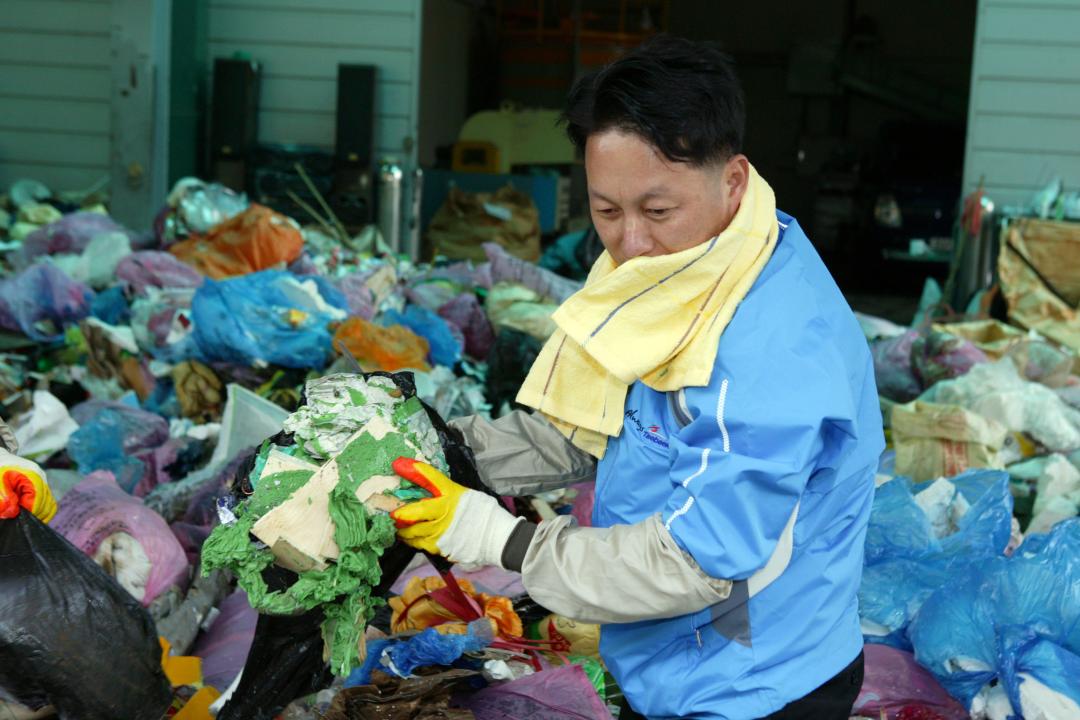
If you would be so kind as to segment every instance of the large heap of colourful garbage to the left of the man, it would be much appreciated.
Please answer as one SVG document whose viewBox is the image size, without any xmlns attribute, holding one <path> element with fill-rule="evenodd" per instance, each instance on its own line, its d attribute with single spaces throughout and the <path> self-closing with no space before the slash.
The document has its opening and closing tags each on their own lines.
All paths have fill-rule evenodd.
<svg viewBox="0 0 1080 720">
<path fill-rule="evenodd" d="M 610 717 L 596 627 L 389 518 L 399 457 L 481 488 L 446 421 L 513 407 L 580 286 L 528 223 L 417 264 L 191 178 L 152 228 L 103 200 L 0 199 L 0 439 L 58 503 L 0 520 L 0 716 Z"/>
</svg>

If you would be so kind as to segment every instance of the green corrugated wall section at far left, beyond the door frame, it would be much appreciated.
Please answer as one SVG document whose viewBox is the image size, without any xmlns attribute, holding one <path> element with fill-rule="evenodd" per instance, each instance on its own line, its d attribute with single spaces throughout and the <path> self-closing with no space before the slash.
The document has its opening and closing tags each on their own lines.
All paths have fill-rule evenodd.
<svg viewBox="0 0 1080 720">
<path fill-rule="evenodd" d="M 0 3 L 0 188 L 109 172 L 110 0 Z"/>
</svg>

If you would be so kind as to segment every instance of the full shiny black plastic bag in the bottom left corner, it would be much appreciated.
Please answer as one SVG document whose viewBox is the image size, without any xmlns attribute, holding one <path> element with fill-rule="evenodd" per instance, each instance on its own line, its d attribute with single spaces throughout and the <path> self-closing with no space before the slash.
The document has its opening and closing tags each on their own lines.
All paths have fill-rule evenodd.
<svg viewBox="0 0 1080 720">
<path fill-rule="evenodd" d="M 30 513 L 0 520 L 0 698 L 160 720 L 172 697 L 146 609 Z"/>
</svg>

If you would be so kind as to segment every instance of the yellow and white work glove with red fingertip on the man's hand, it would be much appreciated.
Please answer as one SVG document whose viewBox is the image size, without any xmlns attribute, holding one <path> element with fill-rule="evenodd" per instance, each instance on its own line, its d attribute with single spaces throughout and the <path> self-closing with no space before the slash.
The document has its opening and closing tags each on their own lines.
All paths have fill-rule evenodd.
<svg viewBox="0 0 1080 720">
<path fill-rule="evenodd" d="M 502 565 L 502 551 L 518 522 L 491 495 L 464 488 L 424 462 L 399 458 L 394 472 L 431 493 L 390 516 L 397 536 L 418 549 L 465 565 Z"/>
</svg>

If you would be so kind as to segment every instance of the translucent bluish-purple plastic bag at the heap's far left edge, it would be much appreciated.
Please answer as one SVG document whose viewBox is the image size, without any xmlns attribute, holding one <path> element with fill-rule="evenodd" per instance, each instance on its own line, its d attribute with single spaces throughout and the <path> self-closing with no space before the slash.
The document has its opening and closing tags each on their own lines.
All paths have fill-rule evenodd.
<svg viewBox="0 0 1080 720">
<path fill-rule="evenodd" d="M 0 327 L 38 342 L 55 342 L 66 326 L 90 314 L 93 299 L 89 287 L 42 262 L 0 280 Z"/>
</svg>

